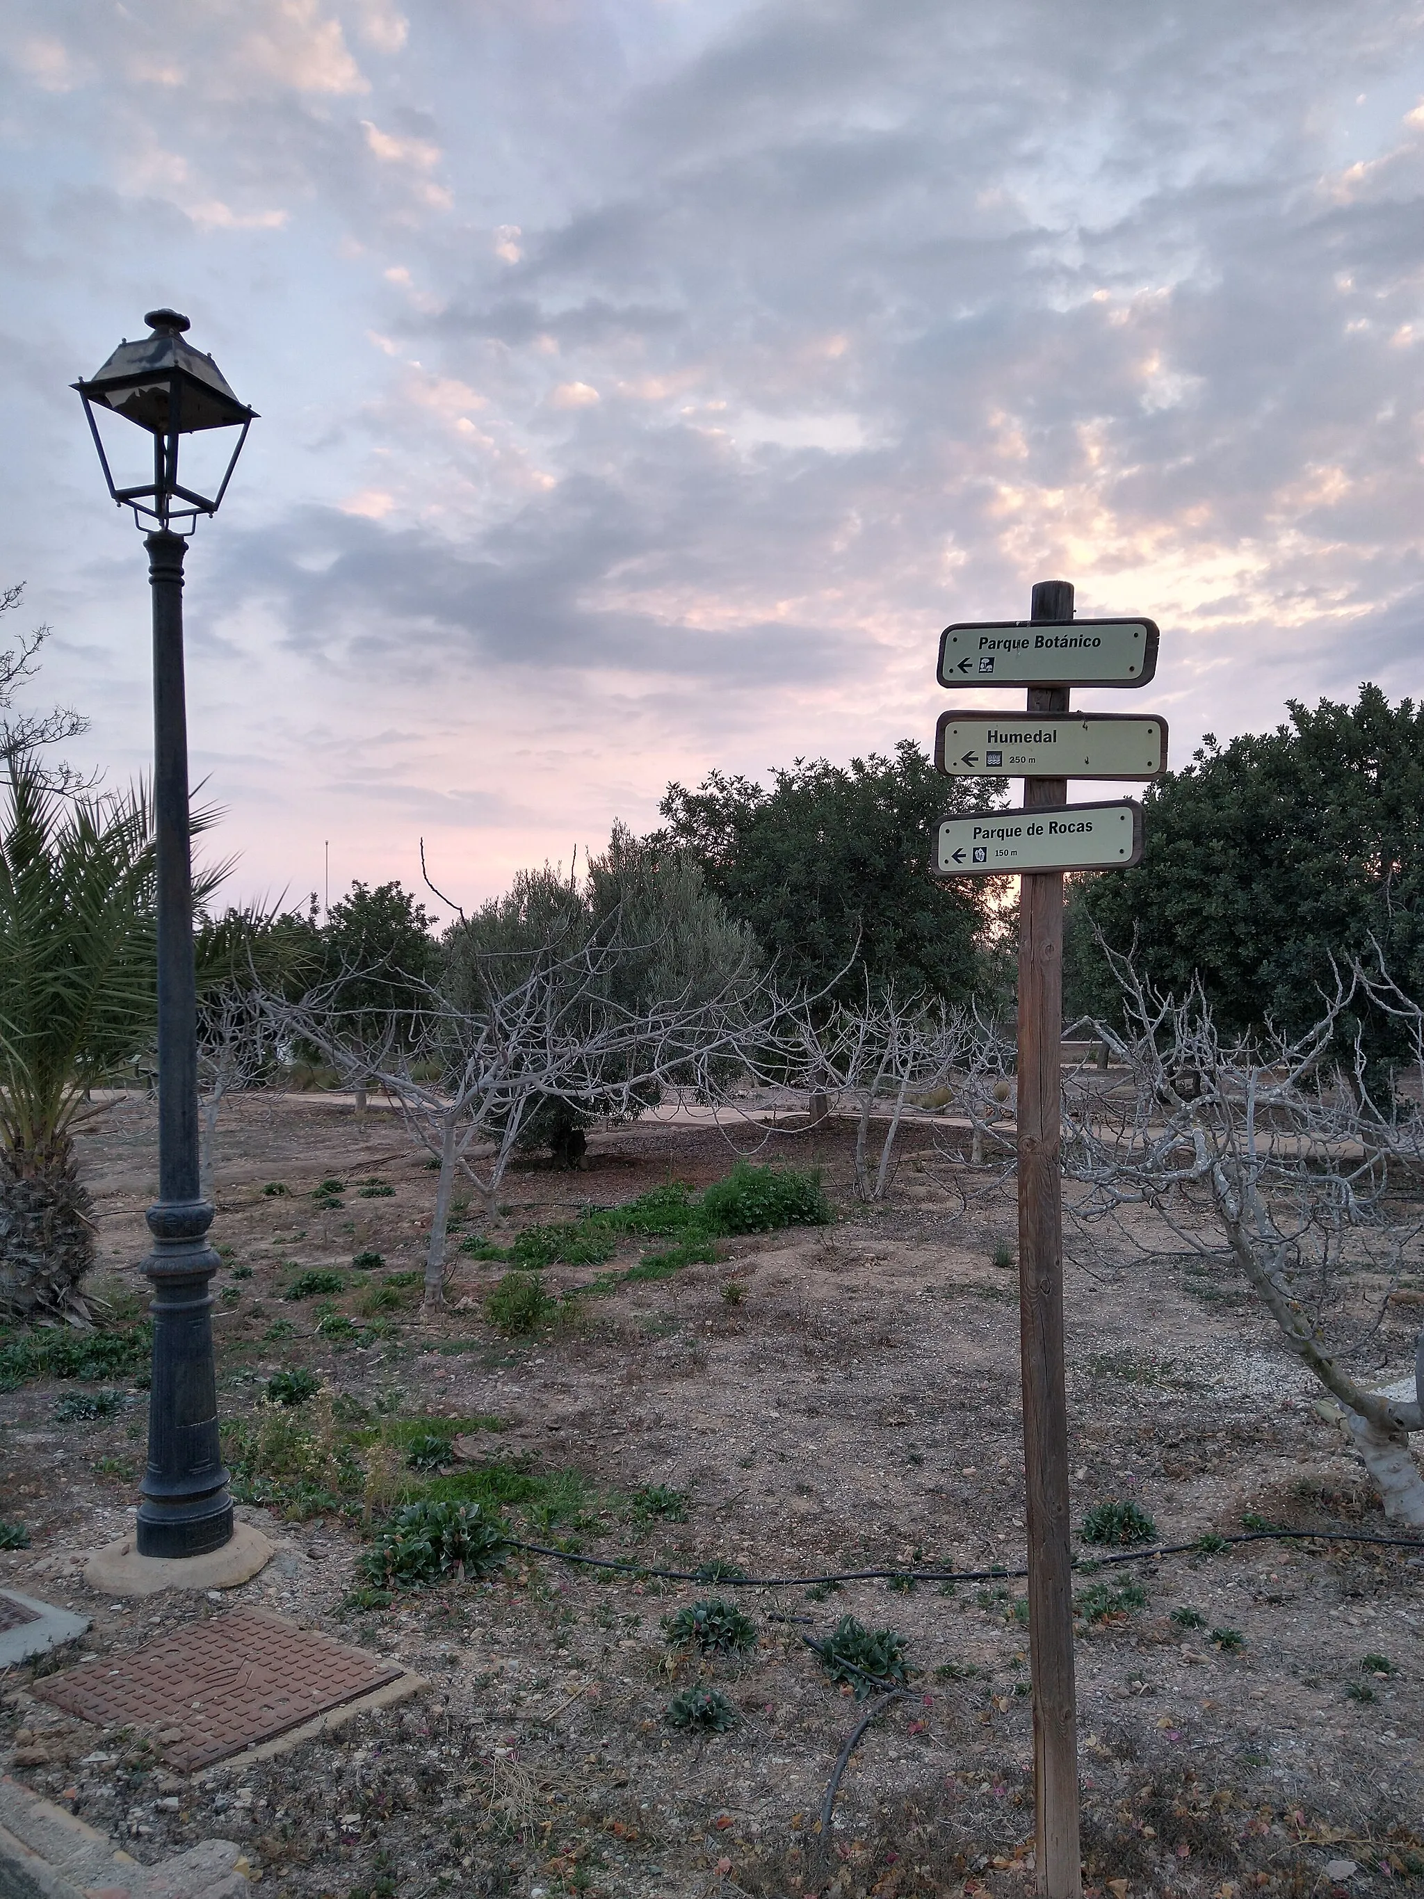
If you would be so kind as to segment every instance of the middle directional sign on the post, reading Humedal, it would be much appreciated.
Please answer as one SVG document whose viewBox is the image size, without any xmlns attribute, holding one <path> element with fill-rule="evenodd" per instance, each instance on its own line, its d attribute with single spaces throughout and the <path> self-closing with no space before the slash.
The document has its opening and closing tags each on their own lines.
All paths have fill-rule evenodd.
<svg viewBox="0 0 1424 1899">
<path fill-rule="evenodd" d="M 934 763 L 951 779 L 1160 779 L 1168 722 L 1130 712 L 942 712 Z"/>
</svg>

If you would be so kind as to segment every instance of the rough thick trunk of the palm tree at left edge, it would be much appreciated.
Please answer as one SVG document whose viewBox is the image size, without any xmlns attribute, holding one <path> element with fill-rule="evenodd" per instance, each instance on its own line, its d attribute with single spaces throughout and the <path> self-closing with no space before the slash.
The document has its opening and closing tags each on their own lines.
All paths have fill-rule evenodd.
<svg viewBox="0 0 1424 1899">
<path fill-rule="evenodd" d="M 0 1312 L 17 1320 L 87 1318 L 80 1282 L 95 1227 L 74 1143 L 0 1151 Z"/>
</svg>

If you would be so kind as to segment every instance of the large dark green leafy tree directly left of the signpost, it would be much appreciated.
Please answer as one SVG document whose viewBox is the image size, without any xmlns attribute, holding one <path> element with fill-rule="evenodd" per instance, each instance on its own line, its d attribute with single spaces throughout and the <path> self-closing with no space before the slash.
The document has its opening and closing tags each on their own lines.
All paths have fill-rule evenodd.
<svg viewBox="0 0 1424 1899">
<path fill-rule="evenodd" d="M 670 784 L 661 847 L 687 853 L 729 917 L 746 925 L 784 987 L 834 999 L 896 989 L 968 995 L 980 976 L 985 889 L 928 875 L 936 822 L 989 809 L 989 780 L 944 779 L 909 739 L 894 758 L 824 758 L 773 771 L 771 786 L 710 771 Z M 854 957 L 860 968 L 849 970 Z"/>
</svg>

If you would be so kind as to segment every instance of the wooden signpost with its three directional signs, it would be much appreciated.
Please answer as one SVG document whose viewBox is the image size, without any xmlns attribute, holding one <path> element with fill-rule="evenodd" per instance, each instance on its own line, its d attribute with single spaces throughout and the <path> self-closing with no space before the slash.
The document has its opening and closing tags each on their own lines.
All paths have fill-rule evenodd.
<svg viewBox="0 0 1424 1899">
<path fill-rule="evenodd" d="M 1166 769 L 1162 720 L 1122 720 L 1124 727 L 1139 727 L 1137 733 L 1126 741 L 1122 735 L 1105 739 L 1101 727 L 1118 722 L 1094 716 L 1069 720 L 1069 687 L 1145 686 L 1156 670 L 1156 648 L 1158 630 L 1151 619 L 1075 621 L 1069 581 L 1039 581 L 1027 621 L 955 625 L 940 640 L 942 686 L 1029 687 L 1027 718 L 1020 712 L 991 718 L 947 712 L 940 720 L 940 771 L 953 777 L 1021 771 L 1023 807 L 978 818 L 946 818 L 936 836 L 934 874 L 993 877 L 1018 872 L 1021 877 L 1018 1269 L 1040 1899 L 1082 1895 L 1063 1373 L 1063 872 L 1107 870 L 1135 864 L 1141 856 L 1141 807 L 1126 798 L 1069 805 L 1067 780 L 1152 779 Z M 989 743 L 982 727 L 1004 733 L 1002 743 Z M 1147 727 L 1156 727 L 1156 737 Z M 997 761 L 989 763 L 995 754 Z M 1004 756 L 1016 763 L 1004 763 Z M 1141 769 L 1132 769 L 1134 756 Z M 1116 769 L 1097 769 L 1111 761 Z"/>
</svg>

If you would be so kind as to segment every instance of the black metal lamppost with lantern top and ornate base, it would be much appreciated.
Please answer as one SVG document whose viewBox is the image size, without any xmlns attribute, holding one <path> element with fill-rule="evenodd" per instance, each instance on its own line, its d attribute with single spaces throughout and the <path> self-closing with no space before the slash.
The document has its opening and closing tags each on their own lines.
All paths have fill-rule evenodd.
<svg viewBox="0 0 1424 1899">
<path fill-rule="evenodd" d="M 213 515 L 237 465 L 254 410 L 216 363 L 184 342 L 188 319 L 150 310 L 152 336 L 123 342 L 74 387 L 89 418 L 108 492 L 148 528 L 154 600 L 154 849 L 158 862 L 158 1200 L 144 1272 L 154 1288 L 154 1379 L 148 1468 L 141 1485 L 139 1555 L 197 1557 L 234 1532 L 218 1443 L 211 1280 L 213 1208 L 197 1174 L 197 1006 L 194 980 L 192 855 L 188 849 L 188 714 L 182 689 L 182 556 L 199 515 Z M 116 486 L 97 410 L 154 437 L 152 480 Z M 239 429 L 215 496 L 178 480 L 178 442 L 199 429 Z M 192 482 L 192 477 L 188 477 Z"/>
</svg>

